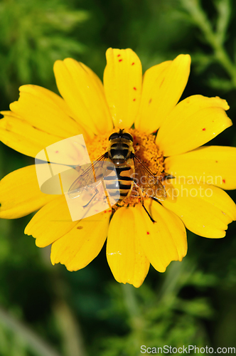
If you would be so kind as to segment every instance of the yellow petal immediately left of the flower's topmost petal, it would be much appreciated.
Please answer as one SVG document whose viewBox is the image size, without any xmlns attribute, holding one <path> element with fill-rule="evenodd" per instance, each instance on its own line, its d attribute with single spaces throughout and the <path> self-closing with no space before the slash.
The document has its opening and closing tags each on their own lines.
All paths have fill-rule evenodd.
<svg viewBox="0 0 236 356">
<path fill-rule="evenodd" d="M 55 62 L 54 73 L 58 90 L 77 122 L 94 133 L 112 130 L 102 82 L 90 68 L 66 58 Z"/>
</svg>

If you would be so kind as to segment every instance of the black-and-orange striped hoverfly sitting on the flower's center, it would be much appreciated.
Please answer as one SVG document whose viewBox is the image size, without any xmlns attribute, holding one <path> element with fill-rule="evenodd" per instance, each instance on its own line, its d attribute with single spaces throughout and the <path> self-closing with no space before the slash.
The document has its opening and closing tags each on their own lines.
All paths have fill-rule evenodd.
<svg viewBox="0 0 236 356">
<path fill-rule="evenodd" d="M 75 182 L 68 190 L 68 196 L 70 198 L 79 197 L 85 190 L 88 190 L 87 187 L 95 190 L 96 195 L 96 187 L 92 186 L 92 182 L 97 180 L 98 185 L 102 179 L 103 182 L 105 181 L 106 189 L 110 195 L 115 196 L 118 194 L 119 199 L 116 204 L 119 204 L 123 199 L 129 197 L 135 185 L 138 188 L 141 205 L 151 221 L 156 222 L 144 206 L 143 193 L 154 200 L 165 200 L 166 191 L 158 177 L 135 155 L 133 144 L 134 139 L 129 132 L 119 130 L 119 132 L 112 133 L 109 136 L 107 151 L 75 179 Z M 102 172 L 102 162 L 112 162 L 114 164 L 116 170 L 115 178 L 104 174 L 104 171 Z M 109 169 L 109 167 L 107 168 Z M 92 199 L 94 199 L 95 195 Z"/>
</svg>

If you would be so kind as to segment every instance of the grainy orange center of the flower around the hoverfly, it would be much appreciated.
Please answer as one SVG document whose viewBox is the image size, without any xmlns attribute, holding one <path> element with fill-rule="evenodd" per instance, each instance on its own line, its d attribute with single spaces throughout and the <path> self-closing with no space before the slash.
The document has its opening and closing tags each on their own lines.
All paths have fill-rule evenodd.
<svg viewBox="0 0 236 356">
<path fill-rule="evenodd" d="M 128 129 L 134 139 L 135 155 L 141 159 L 141 161 L 153 172 L 157 177 L 164 177 L 163 166 L 163 153 L 159 150 L 159 147 L 155 143 L 154 135 L 147 135 L 144 132 L 140 132 L 136 129 Z M 91 161 L 95 161 L 100 156 L 104 155 L 108 147 L 108 137 L 112 135 L 116 130 L 106 133 L 104 135 L 95 136 L 90 142 L 87 143 L 87 151 L 90 155 Z M 144 199 L 149 198 L 144 194 Z M 121 206 L 135 206 L 139 204 L 139 189 L 134 185 L 131 194 L 124 198 L 122 202 L 113 206 L 114 210 L 119 209 Z"/>
</svg>

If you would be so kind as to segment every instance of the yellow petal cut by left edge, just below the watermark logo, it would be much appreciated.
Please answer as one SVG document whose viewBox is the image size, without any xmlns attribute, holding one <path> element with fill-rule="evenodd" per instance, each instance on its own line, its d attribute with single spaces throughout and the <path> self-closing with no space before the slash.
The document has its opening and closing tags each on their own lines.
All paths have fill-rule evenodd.
<svg viewBox="0 0 236 356">
<path fill-rule="evenodd" d="M 38 187 L 35 165 L 17 169 L 0 182 L 0 218 L 16 219 L 36 211 L 55 199 Z"/>
</svg>

